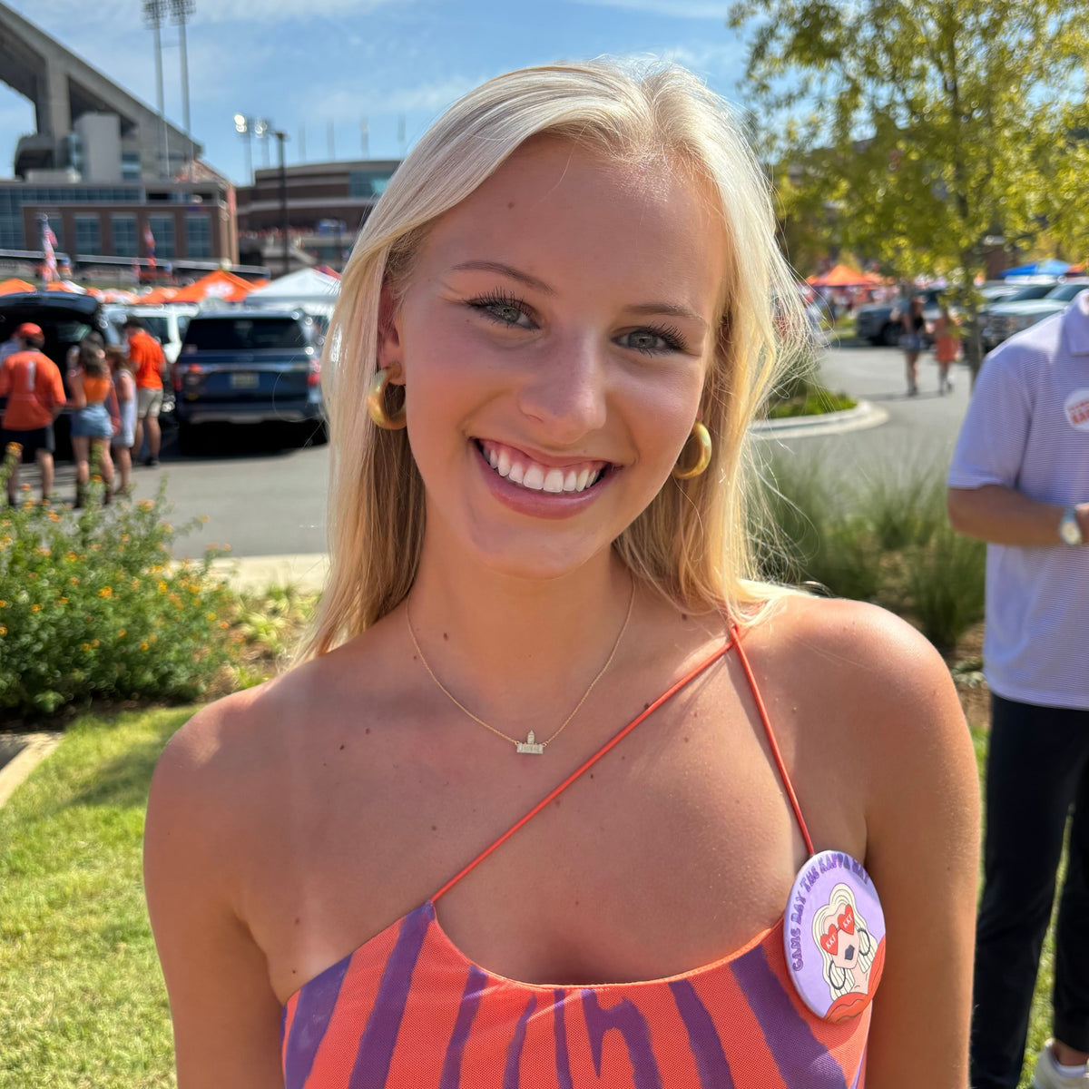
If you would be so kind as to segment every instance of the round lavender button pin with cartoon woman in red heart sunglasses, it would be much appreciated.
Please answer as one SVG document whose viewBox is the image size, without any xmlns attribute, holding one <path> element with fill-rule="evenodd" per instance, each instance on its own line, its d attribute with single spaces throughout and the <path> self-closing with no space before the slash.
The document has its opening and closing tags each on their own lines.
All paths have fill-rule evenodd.
<svg viewBox="0 0 1089 1089">
<path fill-rule="evenodd" d="M 870 1004 L 884 968 L 884 913 L 862 864 L 842 851 L 813 855 L 791 889 L 786 966 L 802 1001 L 839 1024 Z"/>
</svg>

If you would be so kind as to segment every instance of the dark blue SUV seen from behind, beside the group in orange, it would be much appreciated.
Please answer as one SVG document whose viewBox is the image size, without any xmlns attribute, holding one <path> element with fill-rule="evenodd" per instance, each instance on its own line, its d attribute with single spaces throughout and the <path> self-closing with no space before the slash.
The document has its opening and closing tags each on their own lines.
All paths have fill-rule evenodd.
<svg viewBox="0 0 1089 1089">
<path fill-rule="evenodd" d="M 182 452 L 197 448 L 205 424 L 298 424 L 310 441 L 325 441 L 327 328 L 327 317 L 305 309 L 197 314 L 173 370 Z"/>
</svg>

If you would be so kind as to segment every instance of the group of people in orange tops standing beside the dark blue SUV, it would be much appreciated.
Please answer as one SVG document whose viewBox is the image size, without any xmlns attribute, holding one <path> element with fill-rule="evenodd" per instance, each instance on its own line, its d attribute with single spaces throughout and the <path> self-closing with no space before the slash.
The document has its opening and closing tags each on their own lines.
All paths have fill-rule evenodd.
<svg viewBox="0 0 1089 1089">
<path fill-rule="evenodd" d="M 41 501 L 51 501 L 53 425 L 65 405 L 72 409 L 76 509 L 87 502 L 93 465 L 103 485 L 102 501 L 109 503 L 114 495 L 129 494 L 132 466 L 145 442 L 143 463 L 159 464 L 166 356 L 137 319 L 130 318 L 123 328 L 124 348 L 108 347 L 97 332 L 73 346 L 64 360 L 66 383 L 58 365 L 41 351 L 40 327 L 24 322 L 0 345 L 0 397 L 7 397 L 0 437 L 4 449 L 16 443 L 22 450 L 8 478 L 10 503 L 16 501 L 20 463 L 32 462 L 40 472 Z"/>
</svg>

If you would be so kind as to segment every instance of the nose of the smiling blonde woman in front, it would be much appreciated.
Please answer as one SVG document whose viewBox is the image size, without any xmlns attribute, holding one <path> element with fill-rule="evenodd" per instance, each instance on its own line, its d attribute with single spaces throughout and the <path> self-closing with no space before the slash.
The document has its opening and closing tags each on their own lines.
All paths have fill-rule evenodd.
<svg viewBox="0 0 1089 1089">
<path fill-rule="evenodd" d="M 574 445 L 604 426 L 605 348 L 589 335 L 565 338 L 533 360 L 518 391 L 518 407 L 541 425 L 542 438 Z"/>
</svg>

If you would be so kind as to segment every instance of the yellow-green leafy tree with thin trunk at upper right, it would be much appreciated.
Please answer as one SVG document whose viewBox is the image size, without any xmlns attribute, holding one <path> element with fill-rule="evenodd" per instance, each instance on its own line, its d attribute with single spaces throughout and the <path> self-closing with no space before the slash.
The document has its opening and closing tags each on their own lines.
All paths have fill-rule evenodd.
<svg viewBox="0 0 1089 1089">
<path fill-rule="evenodd" d="M 1089 0 L 736 0 L 781 215 L 897 276 L 971 285 L 995 245 L 1089 253 Z M 1001 241 L 1000 241 L 1001 240 Z"/>
</svg>

